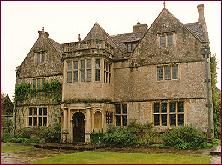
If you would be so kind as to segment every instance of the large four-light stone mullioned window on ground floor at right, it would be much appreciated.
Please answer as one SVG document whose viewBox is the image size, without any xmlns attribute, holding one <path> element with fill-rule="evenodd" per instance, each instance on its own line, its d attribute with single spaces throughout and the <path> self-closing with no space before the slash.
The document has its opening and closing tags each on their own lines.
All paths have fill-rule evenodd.
<svg viewBox="0 0 222 165">
<path fill-rule="evenodd" d="M 175 103 L 175 112 L 171 111 L 170 104 Z M 155 104 L 159 104 L 159 111 L 156 111 Z M 162 112 L 162 104 L 167 104 L 167 112 Z M 179 110 L 179 104 L 182 104 L 183 111 Z M 168 100 L 168 101 L 155 101 L 153 102 L 152 106 L 152 120 L 153 120 L 153 126 L 154 127 L 179 127 L 185 125 L 185 108 L 184 108 L 185 102 L 184 101 L 177 101 L 177 100 Z M 167 123 L 163 125 L 163 116 L 167 115 Z M 173 120 L 173 117 L 175 116 L 175 125 L 171 124 L 171 121 Z M 157 124 L 155 123 L 155 116 L 159 117 Z M 180 121 L 180 117 L 182 117 L 182 121 Z M 183 124 L 181 124 L 183 123 Z"/>
</svg>

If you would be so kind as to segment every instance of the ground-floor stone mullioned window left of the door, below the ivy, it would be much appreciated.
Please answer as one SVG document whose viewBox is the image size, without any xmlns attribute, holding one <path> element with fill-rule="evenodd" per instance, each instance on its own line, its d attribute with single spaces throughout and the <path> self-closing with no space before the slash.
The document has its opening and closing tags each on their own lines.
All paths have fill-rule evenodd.
<svg viewBox="0 0 222 165">
<path fill-rule="evenodd" d="M 28 127 L 42 127 L 42 126 L 48 127 L 48 107 L 46 106 L 29 107 L 27 126 Z"/>
</svg>

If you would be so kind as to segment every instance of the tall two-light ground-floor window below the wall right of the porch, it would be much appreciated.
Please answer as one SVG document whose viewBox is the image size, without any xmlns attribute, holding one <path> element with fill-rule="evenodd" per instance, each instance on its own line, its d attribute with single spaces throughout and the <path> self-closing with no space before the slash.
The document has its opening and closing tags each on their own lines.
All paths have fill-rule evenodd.
<svg viewBox="0 0 222 165">
<path fill-rule="evenodd" d="M 120 107 L 120 109 L 119 109 L 120 112 L 117 112 L 117 106 Z M 124 112 L 124 107 L 125 107 L 126 112 Z M 127 108 L 126 103 L 115 104 L 115 126 L 116 127 L 125 127 L 128 125 L 127 112 L 128 112 L 128 108 Z M 119 118 L 120 124 L 117 124 L 117 118 Z"/>
</svg>

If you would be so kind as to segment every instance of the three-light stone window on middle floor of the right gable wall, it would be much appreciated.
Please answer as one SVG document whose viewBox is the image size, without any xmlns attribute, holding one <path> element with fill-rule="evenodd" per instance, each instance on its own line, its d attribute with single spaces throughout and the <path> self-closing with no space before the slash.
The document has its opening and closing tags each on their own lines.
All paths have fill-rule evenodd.
<svg viewBox="0 0 222 165">
<path fill-rule="evenodd" d="M 166 72 L 167 67 L 170 67 L 168 74 Z M 177 69 L 175 70 L 175 68 L 177 68 Z M 169 75 L 170 75 L 170 77 L 169 77 Z M 175 77 L 175 75 L 176 75 L 176 77 Z M 156 76 L 157 76 L 157 81 L 179 80 L 179 64 L 172 63 L 172 64 L 157 65 Z"/>
</svg>

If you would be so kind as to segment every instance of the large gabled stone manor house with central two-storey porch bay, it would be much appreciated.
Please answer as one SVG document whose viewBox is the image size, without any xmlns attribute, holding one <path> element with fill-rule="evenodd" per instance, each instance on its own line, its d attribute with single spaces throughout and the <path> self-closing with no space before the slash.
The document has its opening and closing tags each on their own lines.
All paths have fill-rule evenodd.
<svg viewBox="0 0 222 165">
<path fill-rule="evenodd" d="M 206 131 L 205 63 L 209 46 L 204 5 L 197 22 L 183 24 L 164 8 L 154 22 L 137 23 L 130 33 L 109 35 L 95 23 L 84 39 L 59 44 L 39 31 L 16 68 L 16 85 L 36 94 L 16 103 L 16 128 L 60 122 L 62 141 L 89 142 L 109 125 L 153 123 L 155 129 L 192 124 Z M 121 26 L 121 25 L 120 25 Z M 46 82 L 62 88 L 55 101 Z"/>
</svg>

